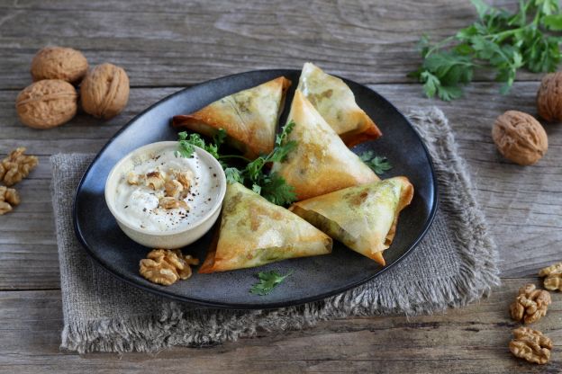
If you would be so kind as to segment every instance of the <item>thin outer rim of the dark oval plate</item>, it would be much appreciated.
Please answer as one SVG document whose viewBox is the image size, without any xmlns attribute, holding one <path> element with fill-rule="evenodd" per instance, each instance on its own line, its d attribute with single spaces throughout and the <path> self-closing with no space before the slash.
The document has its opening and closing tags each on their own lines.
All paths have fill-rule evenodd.
<svg viewBox="0 0 562 374">
<path fill-rule="evenodd" d="M 408 256 L 409 254 L 412 253 L 412 251 L 420 244 L 421 239 L 423 239 L 423 237 L 425 237 L 431 227 L 431 224 L 433 223 L 435 216 L 437 214 L 437 209 L 440 205 L 440 198 L 439 198 L 439 183 L 438 183 L 438 178 L 437 178 L 437 174 L 435 172 L 435 166 L 433 165 L 433 157 L 431 157 L 431 154 L 428 150 L 428 147 L 425 145 L 425 142 L 423 141 L 423 139 L 420 136 L 420 133 L 418 132 L 417 129 L 415 129 L 412 126 L 412 123 L 410 122 L 410 120 L 408 120 L 408 118 L 406 116 L 403 115 L 403 112 L 398 110 L 398 108 L 396 108 L 394 106 L 394 104 L 392 102 L 390 102 L 389 100 L 387 100 L 383 95 L 378 94 L 378 92 L 376 92 L 376 90 L 368 87 L 367 85 L 363 85 L 360 84 L 358 82 L 355 82 L 351 79 L 347 79 L 347 78 L 343 78 L 341 76 L 337 76 L 340 79 L 344 80 L 344 81 L 348 81 L 348 82 L 352 82 L 355 85 L 359 85 L 363 88 L 366 88 L 367 90 L 375 93 L 376 95 L 378 95 L 379 97 L 381 97 L 383 100 L 385 100 L 385 102 L 387 102 L 388 105 L 390 105 L 390 107 L 396 111 L 400 116 L 402 116 L 403 120 L 405 120 L 405 122 L 408 124 L 408 126 L 413 130 L 413 132 L 415 133 L 415 135 L 420 139 L 420 143 L 421 143 L 421 147 L 423 149 L 423 152 L 425 153 L 425 155 L 428 158 L 429 161 L 429 165 L 430 165 L 430 170 L 431 170 L 431 180 L 432 180 L 432 197 L 433 197 L 433 205 L 431 206 L 431 210 L 430 210 L 430 214 L 428 219 L 426 220 L 424 226 L 421 229 L 420 234 L 417 236 L 417 238 L 412 242 L 412 244 L 410 245 L 409 248 L 407 248 L 403 254 L 401 254 L 399 257 L 397 257 L 393 263 L 390 263 L 388 265 L 385 265 L 379 272 L 376 272 L 374 274 L 371 274 L 369 276 L 367 276 L 366 278 L 362 279 L 362 280 L 358 280 L 356 282 L 353 282 L 351 284 L 345 285 L 343 287 L 340 287 L 338 289 L 331 289 L 328 292 L 324 292 L 322 294 L 318 294 L 318 295 L 314 295 L 312 297 L 306 297 L 306 298 L 298 298 L 295 300 L 289 300 L 289 301 L 277 301 L 277 302 L 271 302 L 271 303 L 267 303 L 267 304 L 260 304 L 260 303 L 256 303 L 256 304 L 248 304 L 248 303 L 236 303 L 236 302 L 216 302 L 216 301 L 209 301 L 206 299 L 202 299 L 202 298 L 188 298 L 188 297 L 184 297 L 184 296 L 178 296 L 177 294 L 173 293 L 173 292 L 169 292 L 166 289 L 154 289 L 154 288 L 150 288 L 146 285 L 143 285 L 141 283 L 136 282 L 135 280 L 131 280 L 125 276 L 123 276 L 122 274 L 120 274 L 119 272 L 114 272 L 113 270 L 109 269 L 104 262 L 99 258 L 99 256 L 97 256 L 97 254 L 95 254 L 95 252 L 92 250 L 92 248 L 90 248 L 90 246 L 86 243 L 86 239 L 84 238 L 84 236 L 82 235 L 82 230 L 78 225 L 78 219 L 77 219 L 77 195 L 78 192 L 82 190 L 83 188 L 83 184 L 86 182 L 86 175 L 89 174 L 90 170 L 92 169 L 92 167 L 95 165 L 95 163 L 97 162 L 97 160 L 100 158 L 100 156 L 102 155 L 102 153 L 104 153 L 104 150 L 109 147 L 113 141 L 118 138 L 121 133 L 129 128 L 129 126 L 131 125 L 131 123 L 135 122 L 136 120 L 138 120 L 142 115 L 144 115 L 145 113 L 147 113 L 148 111 L 151 111 L 153 108 L 157 107 L 160 103 L 162 102 L 167 102 L 168 100 L 171 100 L 172 98 L 174 98 L 175 96 L 184 93 L 187 90 L 191 90 L 199 85 L 207 85 L 210 84 L 212 82 L 215 81 L 219 81 L 219 80 L 227 80 L 229 78 L 232 78 L 234 76 L 242 76 L 245 74 L 249 74 L 249 73 L 275 73 L 275 74 L 279 74 L 280 76 L 286 75 L 286 74 L 299 74 L 301 72 L 301 69 L 256 69 L 256 70 L 249 70 L 249 71 L 245 71 L 245 72 L 240 72 L 240 73 L 234 73 L 228 76 L 220 76 L 217 78 L 213 78 L 213 79 L 209 79 L 206 80 L 204 82 L 198 83 L 196 85 L 191 85 L 188 87 L 184 87 L 180 90 L 178 90 L 177 92 L 173 93 L 173 94 L 168 94 L 168 96 L 163 97 L 162 99 L 160 99 L 158 102 L 154 102 L 153 104 L 151 104 L 150 106 L 148 106 L 145 110 L 139 112 L 137 115 L 135 115 L 133 118 L 131 118 L 131 120 L 129 120 L 126 124 L 124 124 L 122 126 L 121 129 L 117 130 L 117 132 L 115 132 L 113 134 L 113 136 L 111 138 L 109 138 L 107 140 L 107 142 L 104 144 L 104 147 L 102 147 L 97 154 L 95 155 L 95 157 L 92 159 L 92 161 L 90 162 L 90 165 L 88 165 L 88 167 L 86 168 L 86 171 L 84 172 L 84 174 L 80 177 L 80 182 L 77 184 L 77 189 L 74 193 L 74 197 L 72 200 L 72 222 L 73 222 L 73 227 L 74 227 L 74 231 L 75 234 L 77 236 L 78 242 L 80 243 L 80 245 L 84 248 L 84 250 L 86 251 L 86 253 L 90 256 L 90 258 L 92 258 L 93 260 L 95 260 L 95 263 L 101 267 L 102 269 L 104 269 L 104 272 L 108 272 L 111 275 L 113 275 L 114 277 L 116 277 L 119 280 L 122 280 L 128 284 L 131 284 L 133 287 L 136 287 L 138 289 L 142 289 L 145 291 L 150 292 L 151 294 L 154 295 L 158 295 L 158 296 L 163 296 L 166 298 L 171 298 L 177 301 L 181 301 L 181 302 L 187 302 L 187 303 L 192 303 L 192 304 L 196 304 L 196 305 L 200 305 L 200 306 L 204 306 L 204 307 L 214 307 L 214 308 L 220 308 L 220 309 L 244 309 L 244 310 L 257 310 L 257 309 L 274 309 L 274 308 L 279 308 L 279 307 L 295 307 L 295 306 L 299 306 L 299 305 L 303 305 L 306 303 L 310 303 L 310 302 L 314 302 L 314 301 L 319 301 L 322 300 L 324 298 L 330 298 L 331 296 L 340 294 L 342 292 L 345 292 L 346 290 L 349 289 L 355 289 L 358 286 L 361 286 L 365 283 L 367 283 L 367 281 L 369 280 L 373 280 L 376 277 L 378 277 L 379 275 L 383 274 L 384 272 L 388 271 L 388 269 L 391 269 L 392 267 L 394 267 L 395 264 L 397 263 L 401 263 L 403 261 L 403 259 Z M 336 75 L 332 75 L 332 76 L 336 76 Z M 285 111 L 285 108 L 284 108 Z"/>
</svg>

